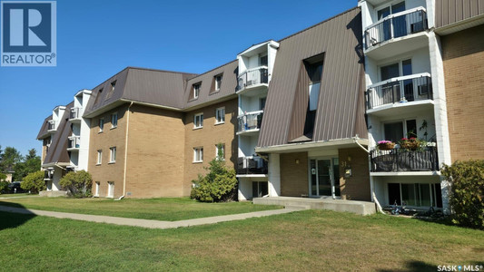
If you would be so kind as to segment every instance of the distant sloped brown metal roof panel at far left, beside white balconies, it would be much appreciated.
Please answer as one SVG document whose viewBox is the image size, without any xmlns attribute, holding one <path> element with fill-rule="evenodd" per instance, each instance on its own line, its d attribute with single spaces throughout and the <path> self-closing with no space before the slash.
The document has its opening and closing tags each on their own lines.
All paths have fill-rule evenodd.
<svg viewBox="0 0 484 272">
<path fill-rule="evenodd" d="M 47 154 L 45 155 L 44 164 L 57 162 L 68 163 L 70 161 L 69 152 L 67 151 L 67 141 L 72 133 L 71 123 L 68 121 L 72 107 L 74 107 L 74 102 L 65 106 L 64 115 L 59 121 L 57 132 L 55 132 L 52 137 L 49 151 L 47 151 Z"/>
</svg>

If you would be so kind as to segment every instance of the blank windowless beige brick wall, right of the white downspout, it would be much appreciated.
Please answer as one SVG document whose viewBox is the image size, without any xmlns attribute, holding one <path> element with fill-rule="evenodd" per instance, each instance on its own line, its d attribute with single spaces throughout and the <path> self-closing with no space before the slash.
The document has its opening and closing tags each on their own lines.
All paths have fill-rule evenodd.
<svg viewBox="0 0 484 272">
<path fill-rule="evenodd" d="M 126 197 L 186 195 L 183 112 L 133 105 L 129 114 Z"/>
</svg>

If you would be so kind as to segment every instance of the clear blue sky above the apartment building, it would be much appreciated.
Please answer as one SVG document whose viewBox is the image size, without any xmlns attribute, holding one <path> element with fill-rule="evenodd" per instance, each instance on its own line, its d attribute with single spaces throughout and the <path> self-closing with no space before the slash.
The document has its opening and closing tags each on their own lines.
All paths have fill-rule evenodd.
<svg viewBox="0 0 484 272">
<path fill-rule="evenodd" d="M 0 67 L 0 146 L 23 155 L 54 107 L 126 66 L 204 73 L 252 44 L 278 41 L 356 0 L 58 0 L 57 66 Z M 1 32 L 1 30 L 0 30 Z"/>
</svg>

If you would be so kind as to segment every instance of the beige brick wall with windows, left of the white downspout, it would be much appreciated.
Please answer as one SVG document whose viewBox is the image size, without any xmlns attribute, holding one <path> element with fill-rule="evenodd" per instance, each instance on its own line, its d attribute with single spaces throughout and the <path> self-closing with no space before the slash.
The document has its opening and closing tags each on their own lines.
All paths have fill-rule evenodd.
<svg viewBox="0 0 484 272">
<path fill-rule="evenodd" d="M 123 174 L 124 174 L 124 145 L 126 136 L 126 110 L 128 105 L 124 104 L 103 114 L 96 116 L 91 121 L 91 138 L 89 140 L 89 172 L 93 176 L 93 182 L 99 181 L 99 196 L 106 197 L 108 192 L 108 181 L 114 181 L 114 198 L 123 195 Z M 118 124 L 112 128 L 111 114 L 118 113 Z M 99 119 L 104 118 L 104 131 L 99 132 Z M 81 140 L 82 141 L 82 140 Z M 116 147 L 116 161 L 109 163 L 111 147 Z M 97 165 L 97 151 L 103 151 L 103 160 Z M 95 183 L 93 183 L 93 193 Z"/>
</svg>

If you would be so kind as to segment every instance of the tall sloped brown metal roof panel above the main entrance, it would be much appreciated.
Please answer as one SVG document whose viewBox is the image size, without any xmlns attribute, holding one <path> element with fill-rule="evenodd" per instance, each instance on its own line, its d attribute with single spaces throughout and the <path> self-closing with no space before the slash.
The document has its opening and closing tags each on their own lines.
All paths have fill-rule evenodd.
<svg viewBox="0 0 484 272">
<path fill-rule="evenodd" d="M 258 146 L 288 143 L 291 110 L 306 106 L 301 101 L 297 102 L 301 104 L 295 104 L 301 62 L 319 53 L 325 53 L 325 59 L 320 102 L 311 141 L 355 136 L 357 108 L 361 103 L 358 99 L 362 66 L 359 8 L 316 24 L 280 42 Z M 304 120 L 300 115 L 295 119 L 299 122 Z"/>
</svg>

